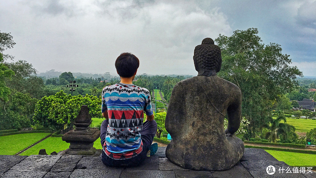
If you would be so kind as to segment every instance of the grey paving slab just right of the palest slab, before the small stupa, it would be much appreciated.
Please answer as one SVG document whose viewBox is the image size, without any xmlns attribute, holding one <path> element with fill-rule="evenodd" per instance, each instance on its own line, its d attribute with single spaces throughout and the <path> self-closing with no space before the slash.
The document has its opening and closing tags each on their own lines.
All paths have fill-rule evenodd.
<svg viewBox="0 0 316 178">
<path fill-rule="evenodd" d="M 82 155 L 64 155 L 52 167 L 51 172 L 72 172 L 81 158 Z"/>
</svg>

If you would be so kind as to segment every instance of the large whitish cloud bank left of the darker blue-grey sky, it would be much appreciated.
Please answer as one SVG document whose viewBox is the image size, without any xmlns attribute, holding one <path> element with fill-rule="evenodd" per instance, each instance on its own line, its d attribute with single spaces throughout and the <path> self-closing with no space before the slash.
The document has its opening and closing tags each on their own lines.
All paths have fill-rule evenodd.
<svg viewBox="0 0 316 178">
<path fill-rule="evenodd" d="M 0 3 L 1 4 L 1 3 Z M 0 23 L 12 32 L 8 53 L 38 71 L 115 72 L 121 52 L 141 61 L 141 73 L 192 74 L 194 47 L 206 37 L 231 34 L 217 7 L 194 2 L 30 1 L 0 5 Z M 18 11 L 18 13 L 16 13 Z"/>
</svg>

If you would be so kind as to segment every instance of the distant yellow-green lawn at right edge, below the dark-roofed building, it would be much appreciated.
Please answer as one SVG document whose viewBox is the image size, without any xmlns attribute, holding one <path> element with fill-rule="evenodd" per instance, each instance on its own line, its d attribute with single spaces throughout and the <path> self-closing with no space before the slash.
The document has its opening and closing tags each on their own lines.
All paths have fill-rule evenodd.
<svg viewBox="0 0 316 178">
<path fill-rule="evenodd" d="M 295 132 L 306 133 L 316 127 L 316 120 L 286 118 L 286 122 L 295 127 Z"/>
</svg>

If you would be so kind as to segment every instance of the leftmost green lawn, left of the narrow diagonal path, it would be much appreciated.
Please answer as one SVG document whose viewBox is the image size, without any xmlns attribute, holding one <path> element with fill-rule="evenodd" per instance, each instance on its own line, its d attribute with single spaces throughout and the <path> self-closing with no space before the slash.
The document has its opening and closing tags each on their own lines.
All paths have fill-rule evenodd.
<svg viewBox="0 0 316 178">
<path fill-rule="evenodd" d="M 14 155 L 49 134 L 50 133 L 22 133 L 1 136 L 0 155 Z"/>
</svg>

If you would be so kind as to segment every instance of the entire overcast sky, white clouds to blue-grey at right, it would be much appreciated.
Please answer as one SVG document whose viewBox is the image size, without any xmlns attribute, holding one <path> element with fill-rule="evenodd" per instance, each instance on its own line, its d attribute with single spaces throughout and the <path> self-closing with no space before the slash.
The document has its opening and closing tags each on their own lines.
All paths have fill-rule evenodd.
<svg viewBox="0 0 316 178">
<path fill-rule="evenodd" d="M 1 0 L 0 30 L 16 42 L 4 53 L 39 72 L 115 74 L 115 59 L 132 52 L 139 74 L 197 75 L 193 51 L 204 38 L 253 27 L 316 76 L 315 9 L 316 0 Z"/>
</svg>

